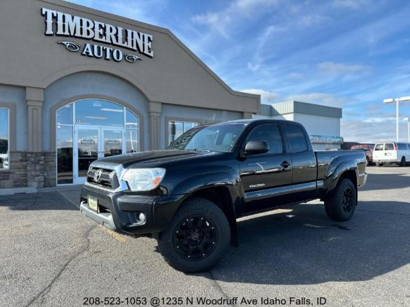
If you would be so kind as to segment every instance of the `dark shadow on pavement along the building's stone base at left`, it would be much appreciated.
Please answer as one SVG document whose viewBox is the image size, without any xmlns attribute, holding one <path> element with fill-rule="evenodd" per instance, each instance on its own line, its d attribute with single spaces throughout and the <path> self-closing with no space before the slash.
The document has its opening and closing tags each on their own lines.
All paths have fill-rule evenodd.
<svg viewBox="0 0 410 307">
<path fill-rule="evenodd" d="M 78 210 L 59 192 L 1 196 L 0 207 L 9 207 L 11 210 Z"/>
</svg>

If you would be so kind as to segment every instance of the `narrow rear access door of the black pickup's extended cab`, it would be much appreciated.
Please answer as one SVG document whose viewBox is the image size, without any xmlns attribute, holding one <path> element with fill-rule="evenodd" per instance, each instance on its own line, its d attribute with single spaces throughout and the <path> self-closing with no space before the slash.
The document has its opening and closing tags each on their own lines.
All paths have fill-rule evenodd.
<svg viewBox="0 0 410 307">
<path fill-rule="evenodd" d="M 314 198 L 317 188 L 317 162 L 312 144 L 302 126 L 285 124 L 292 153 L 292 198 L 294 202 Z"/>
</svg>

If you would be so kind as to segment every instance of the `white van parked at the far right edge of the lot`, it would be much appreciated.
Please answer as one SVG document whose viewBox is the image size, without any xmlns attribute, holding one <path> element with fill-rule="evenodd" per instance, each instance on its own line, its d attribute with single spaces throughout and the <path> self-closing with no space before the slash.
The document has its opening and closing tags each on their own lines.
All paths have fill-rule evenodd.
<svg viewBox="0 0 410 307">
<path fill-rule="evenodd" d="M 376 162 L 376 166 L 382 166 L 384 163 L 397 163 L 400 166 L 406 166 L 410 162 L 410 144 L 377 143 L 374 145 L 373 162 Z"/>
</svg>

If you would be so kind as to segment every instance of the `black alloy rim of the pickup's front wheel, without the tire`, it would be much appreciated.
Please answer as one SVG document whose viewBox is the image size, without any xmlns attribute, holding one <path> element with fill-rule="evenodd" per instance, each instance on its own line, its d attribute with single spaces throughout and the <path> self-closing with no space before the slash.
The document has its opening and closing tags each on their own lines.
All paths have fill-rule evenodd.
<svg viewBox="0 0 410 307">
<path fill-rule="evenodd" d="M 211 219 L 192 215 L 180 221 L 174 228 L 172 244 L 185 260 L 205 259 L 218 244 L 218 231 Z"/>
</svg>

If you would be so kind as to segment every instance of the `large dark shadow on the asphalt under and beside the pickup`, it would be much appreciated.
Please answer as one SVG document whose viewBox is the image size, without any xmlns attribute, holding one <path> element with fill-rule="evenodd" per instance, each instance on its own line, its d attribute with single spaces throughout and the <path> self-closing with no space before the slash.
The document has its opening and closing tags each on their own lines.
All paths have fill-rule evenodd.
<svg viewBox="0 0 410 307">
<path fill-rule="evenodd" d="M 380 211 L 387 205 L 406 207 L 407 213 L 360 210 L 368 205 Z M 240 246 L 230 248 L 212 269 L 213 277 L 255 284 L 348 282 L 370 280 L 410 262 L 410 203 L 360 202 L 344 223 L 329 220 L 320 204 L 286 208 L 293 210 L 239 221 Z"/>
</svg>

